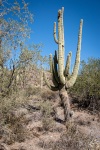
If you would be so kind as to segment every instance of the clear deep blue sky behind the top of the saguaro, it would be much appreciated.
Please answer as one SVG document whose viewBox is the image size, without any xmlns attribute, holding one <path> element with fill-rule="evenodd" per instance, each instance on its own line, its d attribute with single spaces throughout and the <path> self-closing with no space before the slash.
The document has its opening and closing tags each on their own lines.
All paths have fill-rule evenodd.
<svg viewBox="0 0 100 150">
<path fill-rule="evenodd" d="M 58 10 L 64 7 L 65 58 L 72 51 L 75 60 L 78 29 L 83 19 L 81 60 L 100 58 L 100 0 L 25 0 L 34 14 L 30 43 L 43 43 L 43 55 L 54 54 L 58 45 L 53 39 L 53 24 Z"/>
</svg>

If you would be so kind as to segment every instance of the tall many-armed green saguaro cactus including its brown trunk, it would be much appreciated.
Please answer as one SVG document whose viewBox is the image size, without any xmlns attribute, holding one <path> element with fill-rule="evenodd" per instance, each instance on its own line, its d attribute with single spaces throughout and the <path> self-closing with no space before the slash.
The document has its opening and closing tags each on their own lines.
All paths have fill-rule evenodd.
<svg viewBox="0 0 100 150">
<path fill-rule="evenodd" d="M 56 35 L 56 22 L 54 23 L 54 40 L 58 44 L 58 52 L 55 51 L 55 55 L 52 58 L 50 54 L 50 72 L 52 73 L 52 80 L 54 86 L 50 85 L 46 79 L 44 73 L 44 79 L 47 86 L 53 91 L 59 91 L 59 96 L 64 108 L 65 121 L 69 120 L 71 116 L 70 102 L 67 94 L 67 89 L 74 85 L 79 65 L 80 65 L 80 51 L 81 51 L 81 39 L 82 39 L 82 25 L 83 20 L 80 21 L 79 34 L 78 34 L 78 44 L 76 52 L 76 60 L 73 68 L 72 74 L 70 74 L 70 61 L 72 53 L 69 52 L 67 56 L 67 61 L 64 69 L 64 26 L 63 26 L 63 12 L 64 8 L 58 11 L 58 39 Z"/>
</svg>

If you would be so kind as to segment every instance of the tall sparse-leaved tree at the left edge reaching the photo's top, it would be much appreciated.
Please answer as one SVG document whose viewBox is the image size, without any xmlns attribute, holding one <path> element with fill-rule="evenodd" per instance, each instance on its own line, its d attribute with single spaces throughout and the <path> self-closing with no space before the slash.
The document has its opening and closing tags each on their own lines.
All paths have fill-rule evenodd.
<svg viewBox="0 0 100 150">
<path fill-rule="evenodd" d="M 0 95 L 5 96 L 11 89 L 18 53 L 21 44 L 30 36 L 32 21 L 24 0 L 0 0 Z"/>
</svg>

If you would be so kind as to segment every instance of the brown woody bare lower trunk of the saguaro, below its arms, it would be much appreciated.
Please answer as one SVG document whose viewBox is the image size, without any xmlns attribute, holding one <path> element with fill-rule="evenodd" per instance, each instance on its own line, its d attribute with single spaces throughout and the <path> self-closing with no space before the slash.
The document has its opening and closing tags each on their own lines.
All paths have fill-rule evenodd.
<svg viewBox="0 0 100 150">
<path fill-rule="evenodd" d="M 70 109 L 70 101 L 65 86 L 60 86 L 59 96 L 61 98 L 61 104 L 64 109 L 64 119 L 65 119 L 64 121 L 66 122 L 71 118 L 72 112 Z"/>
</svg>

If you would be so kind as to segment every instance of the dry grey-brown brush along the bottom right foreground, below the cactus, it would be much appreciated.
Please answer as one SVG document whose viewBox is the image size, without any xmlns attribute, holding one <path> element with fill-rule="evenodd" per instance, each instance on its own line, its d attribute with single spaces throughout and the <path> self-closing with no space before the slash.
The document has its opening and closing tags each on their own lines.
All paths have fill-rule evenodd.
<svg viewBox="0 0 100 150">
<path fill-rule="evenodd" d="M 57 141 L 40 141 L 38 145 L 50 150 L 99 150 L 100 143 L 91 135 L 81 133 L 74 122 L 67 122 L 66 132 Z"/>
</svg>

